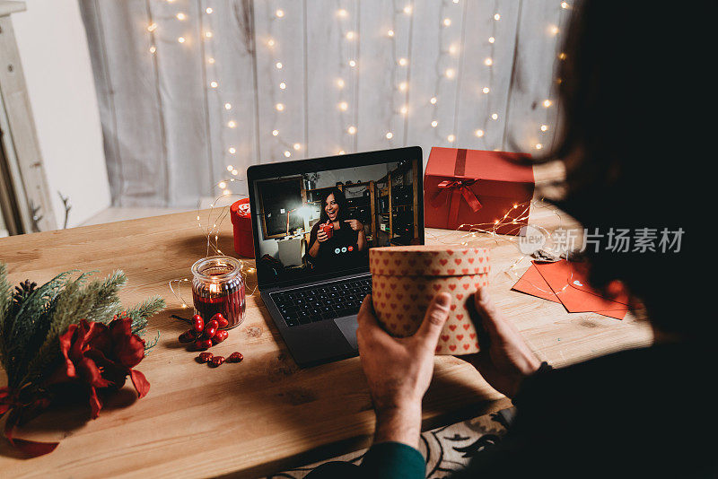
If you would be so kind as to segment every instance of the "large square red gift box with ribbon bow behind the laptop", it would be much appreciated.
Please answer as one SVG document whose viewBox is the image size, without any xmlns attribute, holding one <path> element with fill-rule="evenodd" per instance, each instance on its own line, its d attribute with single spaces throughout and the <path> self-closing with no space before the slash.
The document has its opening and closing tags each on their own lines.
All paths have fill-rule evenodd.
<svg viewBox="0 0 718 479">
<path fill-rule="evenodd" d="M 526 164 L 530 157 L 434 146 L 424 173 L 425 225 L 490 230 L 499 221 L 497 233 L 519 234 L 528 223 L 528 210 L 514 205 L 533 197 L 533 168 Z"/>
</svg>

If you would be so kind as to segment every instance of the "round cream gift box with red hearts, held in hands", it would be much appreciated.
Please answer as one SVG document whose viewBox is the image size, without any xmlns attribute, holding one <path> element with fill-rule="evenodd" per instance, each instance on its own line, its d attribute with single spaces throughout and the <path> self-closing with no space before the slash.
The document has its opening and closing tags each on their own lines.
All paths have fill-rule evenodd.
<svg viewBox="0 0 718 479">
<path fill-rule="evenodd" d="M 468 317 L 468 301 L 478 288 L 488 284 L 487 248 L 372 248 L 369 267 L 374 311 L 381 327 L 390 335 L 405 337 L 416 333 L 433 297 L 439 292 L 449 292 L 449 318 L 436 353 L 478 352 L 477 331 Z"/>
</svg>

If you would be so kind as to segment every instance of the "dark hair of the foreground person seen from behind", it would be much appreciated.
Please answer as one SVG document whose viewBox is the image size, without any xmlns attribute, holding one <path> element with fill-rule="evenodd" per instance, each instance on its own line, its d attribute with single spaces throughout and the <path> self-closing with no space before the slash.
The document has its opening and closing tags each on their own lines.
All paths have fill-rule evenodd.
<svg viewBox="0 0 718 479">
<path fill-rule="evenodd" d="M 702 267 L 713 273 L 705 257 L 714 251 L 703 241 L 707 219 L 692 216 L 709 211 L 701 196 L 711 190 L 705 180 L 715 157 L 714 121 L 701 116 L 715 112 L 714 76 L 705 71 L 715 4 L 691 4 L 685 15 L 662 3 L 573 7 L 559 68 L 563 121 L 544 159 L 565 163 L 566 195 L 557 204 L 589 232 L 649 228 L 660 240 L 664 228 L 685 231 L 679 253 L 642 253 L 632 244 L 626 253 L 589 247 L 586 256 L 592 283 L 626 283 L 661 330 L 705 335 L 715 322 L 705 321 L 707 296 L 696 288 L 705 283 Z"/>
</svg>

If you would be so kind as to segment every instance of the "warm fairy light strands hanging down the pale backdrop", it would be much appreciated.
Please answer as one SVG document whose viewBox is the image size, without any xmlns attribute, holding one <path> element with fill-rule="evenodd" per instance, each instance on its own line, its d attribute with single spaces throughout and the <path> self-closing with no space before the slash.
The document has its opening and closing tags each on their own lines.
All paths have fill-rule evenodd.
<svg viewBox="0 0 718 479">
<path fill-rule="evenodd" d="M 149 1 L 150 0 L 148 0 L 148 2 Z M 178 0 L 162 1 L 166 2 L 167 4 L 180 4 Z M 395 95 L 392 94 L 391 109 L 395 116 L 404 119 L 404 143 L 406 143 L 406 131 L 408 126 L 407 120 L 410 116 L 409 78 L 411 65 L 410 59 L 407 56 L 398 54 L 398 48 L 396 43 L 397 32 L 395 30 L 395 25 L 397 23 L 397 15 L 405 15 L 407 18 L 411 18 L 412 15 L 414 15 L 415 4 L 413 0 L 407 0 L 407 2 L 403 4 L 401 2 L 402 0 L 392 0 L 393 14 L 390 18 L 390 24 L 388 28 L 386 28 L 386 30 L 379 32 L 378 37 L 390 40 L 391 51 L 396 57 L 396 64 L 394 65 L 394 68 L 392 68 L 391 72 L 391 83 L 394 91 L 398 92 L 398 98 L 401 98 L 403 96 L 404 101 L 400 102 L 399 104 L 396 104 L 394 100 Z M 447 29 L 448 27 L 451 27 L 453 22 L 455 22 L 454 20 L 452 20 L 452 18 L 455 18 L 457 15 L 462 14 L 460 13 L 460 10 L 452 9 L 459 9 L 461 4 L 464 4 L 465 8 L 467 0 L 441 0 L 441 2 L 442 5 L 441 12 L 439 15 L 440 18 L 438 19 L 439 28 Z M 221 79 L 219 78 L 220 73 L 217 65 L 218 60 L 215 57 L 214 53 L 217 48 L 216 42 L 222 40 L 215 39 L 214 31 L 210 28 L 206 28 L 205 26 L 211 24 L 211 22 L 206 21 L 206 19 L 202 17 L 211 17 L 212 15 L 216 16 L 217 14 L 223 13 L 215 12 L 215 7 L 209 5 L 208 3 L 209 2 L 207 2 L 206 6 L 202 5 L 198 9 L 198 15 L 200 16 L 200 18 L 196 19 L 200 24 L 199 36 L 202 40 L 202 50 L 206 54 L 206 58 L 204 61 L 204 77 L 207 81 L 206 88 L 208 89 L 209 93 L 222 96 L 223 89 L 221 85 Z M 262 41 L 266 47 L 265 51 L 267 55 L 272 58 L 273 72 L 270 75 L 271 83 L 273 85 L 273 88 L 270 89 L 271 104 L 273 109 L 272 122 L 275 125 L 278 125 L 280 123 L 280 116 L 291 116 L 299 113 L 289 111 L 287 108 L 288 102 L 285 100 L 286 98 L 288 98 L 287 95 L 291 91 L 299 89 L 293 89 L 293 85 L 291 84 L 291 82 L 284 77 L 285 63 L 283 57 L 285 57 L 286 55 L 291 55 L 291 52 L 287 51 L 285 48 L 283 49 L 282 46 L 279 44 L 280 42 L 277 40 L 277 37 L 281 37 L 281 34 L 277 35 L 277 33 L 280 32 L 280 29 L 283 28 L 283 23 L 292 22 L 293 20 L 291 18 L 287 18 L 287 13 L 281 5 L 275 7 L 274 5 L 276 4 L 276 2 L 272 3 L 272 6 L 268 7 L 268 12 L 271 18 L 270 21 L 267 23 L 267 36 L 265 39 L 262 39 Z M 267 5 L 269 5 L 269 3 L 267 3 Z M 502 22 L 503 20 L 502 13 L 499 11 L 498 7 L 499 2 L 495 0 L 492 13 L 491 31 L 488 32 L 489 35 L 486 37 L 488 55 L 487 57 L 483 58 L 483 60 L 481 60 L 483 65 L 487 69 L 488 81 L 486 82 L 486 85 L 480 87 L 479 91 L 477 91 L 477 95 L 486 97 L 487 114 L 478 116 L 479 118 L 477 118 L 480 123 L 477 124 L 477 127 L 473 130 L 473 134 L 478 138 L 484 138 L 488 128 L 490 128 L 491 125 L 499 119 L 499 112 L 492 105 L 493 98 L 489 94 L 493 89 L 494 68 L 496 66 L 496 26 L 498 22 Z M 562 10 L 569 10 L 571 8 L 571 5 L 568 2 L 563 1 L 558 4 L 558 8 Z M 159 43 L 158 39 L 161 38 L 159 37 L 159 34 L 162 32 L 162 27 L 158 24 L 157 21 L 153 20 L 151 16 L 151 9 L 149 7 L 147 8 L 147 11 L 148 24 L 146 25 L 146 30 L 149 32 L 151 39 L 150 54 L 156 55 L 158 48 L 157 44 Z M 465 14 L 465 10 L 463 14 Z M 348 48 L 345 48 L 346 51 L 349 52 L 349 55 L 346 58 L 346 62 L 343 62 L 343 64 L 340 66 L 336 79 L 337 88 L 343 93 L 341 95 L 341 100 L 337 104 L 337 109 L 339 110 L 340 121 L 345 124 L 345 132 L 350 139 L 351 148 L 353 150 L 356 150 L 356 134 L 359 127 L 358 109 L 355 108 L 355 105 L 352 105 L 350 103 L 350 100 L 352 99 L 350 99 L 349 97 L 355 97 L 355 95 L 351 91 L 347 91 L 353 89 L 346 89 L 346 85 L 347 83 L 356 84 L 357 76 L 361 72 L 361 65 L 359 60 L 359 32 L 355 30 L 357 23 L 354 19 L 351 18 L 351 14 L 346 10 L 346 8 L 337 9 L 336 15 L 334 16 L 336 18 L 336 21 L 338 22 L 341 38 L 348 44 L 350 44 Z M 192 15 L 188 12 L 182 11 L 178 7 L 176 13 L 174 13 L 173 18 L 163 19 L 162 22 L 174 21 L 189 23 L 190 20 L 192 20 Z M 563 20 L 564 16 L 559 15 L 559 22 L 563 22 Z M 413 21 L 413 19 L 411 21 Z M 547 35 L 555 37 L 560 32 L 561 26 L 562 25 L 548 25 Z M 176 38 L 176 41 L 180 44 L 188 45 L 188 41 L 189 39 L 191 39 L 191 34 L 189 33 L 191 29 L 187 30 L 188 33 L 182 34 Z M 438 113 L 440 104 L 442 102 L 440 94 L 442 91 L 442 87 L 445 85 L 446 82 L 455 82 L 459 80 L 461 74 L 460 68 L 461 61 L 463 61 L 462 51 L 464 48 L 464 29 L 462 28 L 460 39 L 451 40 L 448 46 L 443 44 L 444 35 L 442 35 L 441 32 L 438 37 L 440 43 L 438 49 L 439 57 L 435 62 L 436 71 L 434 74 L 435 80 L 433 85 L 433 96 L 429 99 L 429 104 L 431 106 L 432 112 L 430 126 L 432 128 L 440 127 L 440 118 Z M 558 42 L 556 42 L 556 45 L 558 45 Z M 558 60 L 565 59 L 564 52 L 560 52 L 558 50 L 556 50 L 556 52 L 556 57 Z M 352 78 L 350 78 L 350 75 Z M 557 79 L 557 83 L 560 83 L 560 79 Z M 551 131 L 553 130 L 553 128 L 550 126 L 550 118 L 555 118 L 556 115 L 553 113 L 549 113 L 548 110 L 555 106 L 555 101 L 550 98 L 552 96 L 552 91 L 548 91 L 547 93 L 548 98 L 540 102 L 541 106 L 547 110 L 546 118 L 538 125 L 538 131 L 535 137 L 530 139 L 531 147 L 536 150 L 543 149 L 545 144 L 548 143 L 546 140 L 547 134 L 554 133 Z M 459 141 L 458 134 L 456 133 L 458 121 L 458 96 L 456 101 L 457 105 L 454 108 L 453 125 L 449 127 L 448 130 L 443 130 L 444 135 L 440 135 L 440 137 L 444 138 L 445 141 L 449 144 L 456 144 Z M 240 121 L 234 115 L 235 106 L 232 105 L 232 102 L 220 100 L 218 104 L 222 105 L 222 122 L 226 130 L 232 131 L 233 129 L 240 127 Z M 390 144 L 394 144 L 392 140 L 395 140 L 395 133 L 391 128 L 391 119 L 389 120 L 389 123 L 390 124 L 386 127 L 384 138 L 385 140 L 391 142 Z M 276 141 L 276 144 L 280 146 L 280 150 L 282 151 L 282 154 L 286 159 L 292 158 L 294 154 L 299 154 L 299 152 L 302 152 L 302 150 L 305 149 L 305 145 L 302 144 L 302 140 L 297 138 L 285 137 L 284 133 L 280 131 L 278 126 L 273 127 L 273 129 L 271 130 L 271 135 L 274 141 Z M 228 137 L 228 135 L 223 135 L 223 132 L 220 132 L 219 137 L 220 141 L 223 143 L 223 155 L 227 159 L 229 159 L 226 165 L 226 170 L 229 173 L 229 178 L 223 179 L 222 181 L 215 183 L 215 187 L 218 188 L 218 190 L 222 193 L 223 196 L 228 196 L 232 195 L 232 188 L 230 184 L 233 181 L 236 181 L 240 174 L 240 171 L 235 167 L 235 163 L 241 163 L 242 161 L 236 161 L 239 148 L 236 144 L 233 144 L 231 140 L 227 141 L 226 138 Z M 229 137 L 231 138 L 232 136 L 230 135 Z M 346 147 L 340 148 L 339 150 L 337 150 L 337 153 L 345 153 L 345 148 Z"/>
</svg>

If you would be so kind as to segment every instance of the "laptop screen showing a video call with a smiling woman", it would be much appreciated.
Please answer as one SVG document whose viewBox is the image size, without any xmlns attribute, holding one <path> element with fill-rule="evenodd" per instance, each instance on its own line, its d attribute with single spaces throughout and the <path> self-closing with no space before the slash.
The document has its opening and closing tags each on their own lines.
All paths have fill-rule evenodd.
<svg viewBox="0 0 718 479">
<path fill-rule="evenodd" d="M 423 244 L 421 154 L 401 151 L 414 154 L 274 163 L 267 178 L 250 174 L 260 287 L 366 272 L 370 248 Z"/>
</svg>

